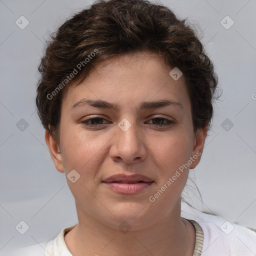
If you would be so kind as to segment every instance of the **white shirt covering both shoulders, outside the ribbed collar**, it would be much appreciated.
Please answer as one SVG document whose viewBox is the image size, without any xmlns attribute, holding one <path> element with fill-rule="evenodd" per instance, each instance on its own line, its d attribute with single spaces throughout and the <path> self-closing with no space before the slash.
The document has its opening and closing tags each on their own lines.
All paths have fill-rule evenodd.
<svg viewBox="0 0 256 256">
<path fill-rule="evenodd" d="M 255 229 L 190 208 L 187 208 L 186 212 L 181 211 L 181 217 L 194 220 L 201 227 L 203 231 L 201 256 L 256 255 Z M 64 233 L 73 226 L 63 228 L 53 240 L 47 242 L 46 247 L 43 246 L 45 250 L 41 247 L 42 244 L 37 244 L 22 248 L 11 256 L 72 256 L 65 244 Z"/>
</svg>

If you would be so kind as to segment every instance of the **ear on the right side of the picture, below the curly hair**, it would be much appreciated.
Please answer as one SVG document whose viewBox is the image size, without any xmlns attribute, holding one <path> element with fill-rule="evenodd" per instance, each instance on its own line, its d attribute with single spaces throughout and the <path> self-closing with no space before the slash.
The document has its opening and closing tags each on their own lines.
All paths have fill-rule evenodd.
<svg viewBox="0 0 256 256">
<path fill-rule="evenodd" d="M 207 131 L 208 125 L 206 125 L 204 128 L 197 129 L 196 131 L 196 134 L 194 136 L 193 150 L 190 155 L 190 159 L 192 161 L 189 167 L 190 169 L 193 169 L 201 159 L 205 138 L 207 136 Z"/>
</svg>

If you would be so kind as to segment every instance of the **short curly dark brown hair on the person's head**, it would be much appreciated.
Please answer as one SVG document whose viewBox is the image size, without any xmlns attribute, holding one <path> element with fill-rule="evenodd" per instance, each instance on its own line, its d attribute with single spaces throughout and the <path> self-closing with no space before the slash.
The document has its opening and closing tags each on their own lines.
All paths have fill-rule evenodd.
<svg viewBox="0 0 256 256">
<path fill-rule="evenodd" d="M 59 141 L 61 98 L 93 67 L 113 56 L 153 51 L 183 73 L 193 131 L 213 116 L 218 78 L 196 32 L 166 6 L 148 0 L 97 0 L 50 35 L 38 66 L 36 106 L 41 123 Z M 71 81 L 71 82 L 69 82 Z"/>
</svg>

